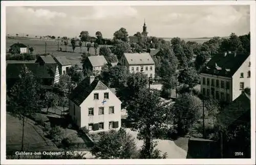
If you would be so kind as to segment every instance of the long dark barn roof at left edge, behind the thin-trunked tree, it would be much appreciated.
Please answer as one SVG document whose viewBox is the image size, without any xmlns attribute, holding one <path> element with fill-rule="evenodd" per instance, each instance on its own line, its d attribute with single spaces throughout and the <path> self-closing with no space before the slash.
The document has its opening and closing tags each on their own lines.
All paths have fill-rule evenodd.
<svg viewBox="0 0 256 165">
<path fill-rule="evenodd" d="M 38 79 L 50 79 L 54 78 L 54 73 L 56 71 L 57 64 L 50 63 L 41 65 L 40 63 L 7 63 L 6 66 L 6 78 L 7 79 L 16 79 L 18 78 L 21 70 L 24 66 L 27 66 L 29 70 L 35 75 Z M 53 70 L 53 73 L 51 72 Z"/>
</svg>

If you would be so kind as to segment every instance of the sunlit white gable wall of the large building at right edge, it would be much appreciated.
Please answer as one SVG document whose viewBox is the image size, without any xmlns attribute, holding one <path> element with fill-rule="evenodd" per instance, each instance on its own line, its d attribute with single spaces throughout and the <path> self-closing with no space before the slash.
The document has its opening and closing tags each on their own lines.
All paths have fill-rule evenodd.
<svg viewBox="0 0 256 165">
<path fill-rule="evenodd" d="M 250 62 L 250 56 L 245 60 L 245 62 L 239 67 L 236 73 L 232 76 L 233 82 L 232 82 L 232 101 L 237 99 L 241 95 L 240 90 L 240 82 L 244 82 L 244 88 L 248 87 L 250 88 L 250 78 L 248 78 L 248 71 L 250 70 L 249 66 Z M 244 77 L 241 78 L 240 74 L 244 73 Z"/>
</svg>

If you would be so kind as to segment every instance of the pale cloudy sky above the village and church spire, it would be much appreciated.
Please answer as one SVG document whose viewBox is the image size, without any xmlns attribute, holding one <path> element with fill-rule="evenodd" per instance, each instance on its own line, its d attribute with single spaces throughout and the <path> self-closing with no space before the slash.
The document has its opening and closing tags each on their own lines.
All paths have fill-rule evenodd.
<svg viewBox="0 0 256 165">
<path fill-rule="evenodd" d="M 6 33 L 24 36 L 78 37 L 81 31 L 113 38 L 125 28 L 129 35 L 197 38 L 244 35 L 250 31 L 249 5 L 222 6 L 29 6 L 6 7 Z"/>
</svg>

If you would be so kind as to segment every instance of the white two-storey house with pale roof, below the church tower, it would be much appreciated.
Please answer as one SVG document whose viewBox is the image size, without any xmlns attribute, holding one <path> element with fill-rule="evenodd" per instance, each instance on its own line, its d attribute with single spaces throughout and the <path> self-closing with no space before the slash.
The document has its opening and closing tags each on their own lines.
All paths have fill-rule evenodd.
<svg viewBox="0 0 256 165">
<path fill-rule="evenodd" d="M 119 64 L 126 66 L 130 73 L 141 72 L 155 78 L 155 62 L 149 53 L 124 53 Z"/>
</svg>

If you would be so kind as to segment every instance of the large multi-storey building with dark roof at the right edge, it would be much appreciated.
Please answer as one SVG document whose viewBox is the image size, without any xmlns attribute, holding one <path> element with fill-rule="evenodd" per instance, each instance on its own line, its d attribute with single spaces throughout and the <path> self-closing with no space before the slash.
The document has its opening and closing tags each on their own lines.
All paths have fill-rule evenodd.
<svg viewBox="0 0 256 165">
<path fill-rule="evenodd" d="M 203 96 L 231 102 L 250 88 L 250 55 L 225 52 L 212 57 L 200 73 Z"/>
</svg>

